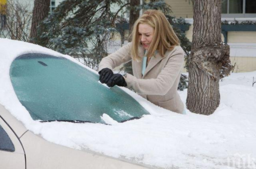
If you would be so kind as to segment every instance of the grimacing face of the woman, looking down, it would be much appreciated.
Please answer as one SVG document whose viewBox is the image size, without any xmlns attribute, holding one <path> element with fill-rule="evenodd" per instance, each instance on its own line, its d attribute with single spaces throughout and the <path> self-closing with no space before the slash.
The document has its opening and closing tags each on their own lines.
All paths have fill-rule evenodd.
<svg viewBox="0 0 256 169">
<path fill-rule="evenodd" d="M 138 26 L 139 39 L 143 47 L 148 50 L 154 35 L 154 28 L 148 24 L 140 23 Z"/>
</svg>

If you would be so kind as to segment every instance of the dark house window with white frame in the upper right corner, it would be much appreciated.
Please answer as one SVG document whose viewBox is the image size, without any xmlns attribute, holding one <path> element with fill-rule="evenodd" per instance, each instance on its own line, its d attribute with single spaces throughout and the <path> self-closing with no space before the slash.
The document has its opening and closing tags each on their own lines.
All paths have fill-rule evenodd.
<svg viewBox="0 0 256 169">
<path fill-rule="evenodd" d="M 222 17 L 256 17 L 256 0 L 222 0 Z"/>
</svg>

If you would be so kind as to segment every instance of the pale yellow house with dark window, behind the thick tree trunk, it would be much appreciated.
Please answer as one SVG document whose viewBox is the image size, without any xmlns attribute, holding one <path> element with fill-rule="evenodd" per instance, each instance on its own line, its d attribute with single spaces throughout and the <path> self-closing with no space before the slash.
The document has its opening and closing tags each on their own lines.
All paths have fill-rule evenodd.
<svg viewBox="0 0 256 169">
<path fill-rule="evenodd" d="M 183 17 L 190 27 L 185 31 L 192 42 L 193 4 L 191 0 L 165 0 L 175 17 Z M 256 71 L 256 0 L 222 0 L 222 41 L 230 45 L 233 72 Z M 241 25 L 243 24 L 243 25 Z"/>
</svg>

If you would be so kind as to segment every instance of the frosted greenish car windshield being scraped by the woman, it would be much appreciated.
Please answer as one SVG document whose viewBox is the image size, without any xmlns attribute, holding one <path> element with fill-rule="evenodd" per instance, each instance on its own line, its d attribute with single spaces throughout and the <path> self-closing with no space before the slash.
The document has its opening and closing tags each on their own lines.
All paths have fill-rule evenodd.
<svg viewBox="0 0 256 169">
<path fill-rule="evenodd" d="M 82 66 L 46 54 L 25 54 L 11 64 L 11 82 L 34 120 L 105 123 L 105 113 L 122 122 L 149 114 L 119 87 L 105 87 Z"/>
</svg>

